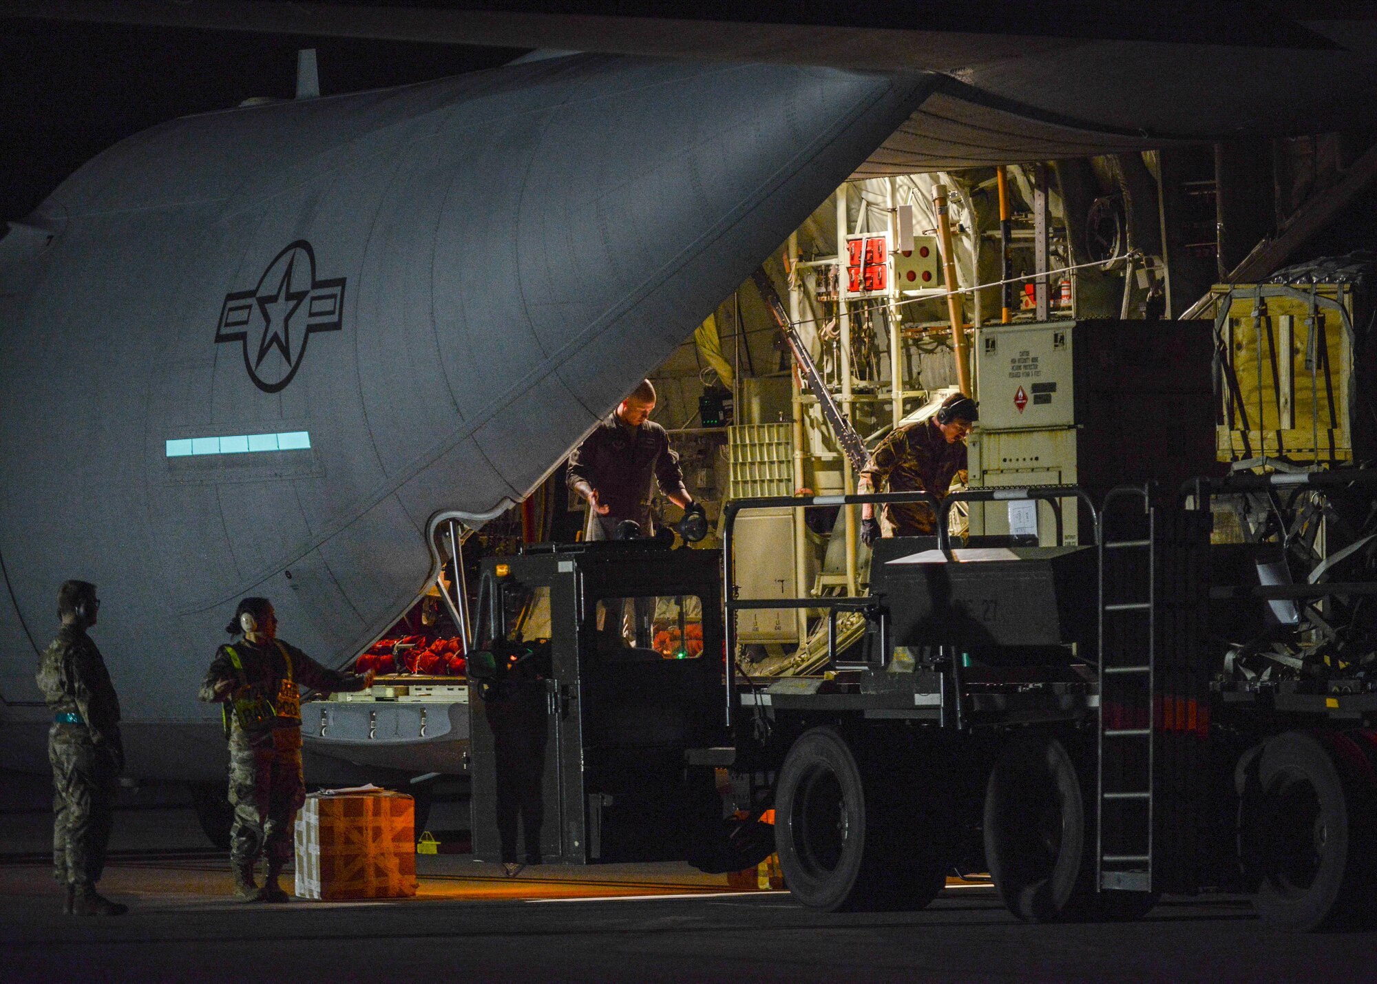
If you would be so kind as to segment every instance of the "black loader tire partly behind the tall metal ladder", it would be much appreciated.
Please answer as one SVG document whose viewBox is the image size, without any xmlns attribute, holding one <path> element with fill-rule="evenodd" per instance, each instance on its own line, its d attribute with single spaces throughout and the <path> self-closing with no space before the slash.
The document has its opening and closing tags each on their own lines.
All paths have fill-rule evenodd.
<svg viewBox="0 0 1377 984">
<path fill-rule="evenodd" d="M 1122 922 L 1157 905 L 1157 892 L 1095 890 L 1091 769 L 1058 739 L 1011 741 L 985 795 L 985 857 L 1009 912 L 1024 922 Z"/>
</svg>

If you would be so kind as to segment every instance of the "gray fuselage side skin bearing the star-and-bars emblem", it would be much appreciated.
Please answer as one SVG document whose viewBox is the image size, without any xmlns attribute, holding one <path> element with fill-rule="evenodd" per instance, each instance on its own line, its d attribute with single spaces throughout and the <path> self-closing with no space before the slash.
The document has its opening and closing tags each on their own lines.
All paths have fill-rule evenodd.
<svg viewBox="0 0 1377 984">
<path fill-rule="evenodd" d="M 0 240 L 0 765 L 45 765 L 34 666 L 81 577 L 128 773 L 222 777 L 196 690 L 238 598 L 347 660 L 435 517 L 529 493 L 931 84 L 576 55 L 87 164 Z"/>
</svg>

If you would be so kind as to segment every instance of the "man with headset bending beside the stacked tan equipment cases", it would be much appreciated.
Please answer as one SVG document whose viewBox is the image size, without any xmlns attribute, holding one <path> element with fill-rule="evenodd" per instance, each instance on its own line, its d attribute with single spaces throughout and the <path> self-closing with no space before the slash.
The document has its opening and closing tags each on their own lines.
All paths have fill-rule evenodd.
<svg viewBox="0 0 1377 984">
<path fill-rule="evenodd" d="M 890 492 L 931 492 L 946 496 L 953 480 L 965 481 L 965 437 L 978 419 L 975 401 L 953 393 L 934 416 L 898 427 L 870 453 L 861 470 L 858 493 L 879 492 L 888 482 Z M 890 536 L 935 536 L 936 514 L 925 502 L 890 503 L 884 507 Z M 861 507 L 861 533 L 870 543 L 880 532 L 874 506 Z"/>
</svg>

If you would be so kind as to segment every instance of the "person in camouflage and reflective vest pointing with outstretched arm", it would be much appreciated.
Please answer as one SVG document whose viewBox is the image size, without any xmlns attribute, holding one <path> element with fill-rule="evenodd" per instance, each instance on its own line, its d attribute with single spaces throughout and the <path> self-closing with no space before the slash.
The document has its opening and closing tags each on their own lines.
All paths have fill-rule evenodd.
<svg viewBox="0 0 1377 984">
<path fill-rule="evenodd" d="M 200 699 L 226 704 L 230 740 L 230 867 L 244 901 L 286 901 L 278 875 L 292 856 L 296 812 L 306 802 L 302 776 L 299 686 L 330 693 L 362 690 L 373 674 L 326 670 L 277 639 L 277 615 L 266 598 L 245 598 L 226 626 L 244 638 L 220 646 L 201 684 Z M 267 859 L 259 888 L 253 865 Z"/>
</svg>

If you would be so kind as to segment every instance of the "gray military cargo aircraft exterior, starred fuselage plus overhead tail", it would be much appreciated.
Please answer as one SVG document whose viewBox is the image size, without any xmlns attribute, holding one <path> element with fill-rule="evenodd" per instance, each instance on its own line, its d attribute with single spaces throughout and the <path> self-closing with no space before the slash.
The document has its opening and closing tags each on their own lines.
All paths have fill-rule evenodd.
<svg viewBox="0 0 1377 984">
<path fill-rule="evenodd" d="M 1369 125 L 1349 7 L 12 0 L 585 54 L 174 120 L 10 223 L 0 765 L 44 768 L 65 577 L 101 586 L 129 773 L 219 779 L 194 693 L 238 598 L 350 659 L 437 524 L 526 496 L 840 182 Z"/>
</svg>

